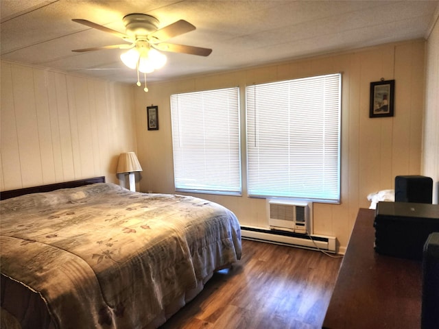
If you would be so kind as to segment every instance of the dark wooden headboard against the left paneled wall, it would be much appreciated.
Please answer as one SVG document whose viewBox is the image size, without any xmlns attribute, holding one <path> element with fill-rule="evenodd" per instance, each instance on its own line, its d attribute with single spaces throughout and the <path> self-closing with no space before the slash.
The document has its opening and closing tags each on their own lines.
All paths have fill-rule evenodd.
<svg viewBox="0 0 439 329">
<path fill-rule="evenodd" d="M 0 200 L 9 199 L 10 197 L 19 197 L 20 195 L 40 192 L 50 192 L 58 190 L 59 188 L 72 188 L 78 186 L 84 186 L 88 184 L 105 183 L 105 176 L 86 178 L 84 180 L 72 180 L 71 182 L 62 182 L 56 184 L 32 186 L 25 188 L 18 188 L 16 190 L 1 191 Z"/>
</svg>

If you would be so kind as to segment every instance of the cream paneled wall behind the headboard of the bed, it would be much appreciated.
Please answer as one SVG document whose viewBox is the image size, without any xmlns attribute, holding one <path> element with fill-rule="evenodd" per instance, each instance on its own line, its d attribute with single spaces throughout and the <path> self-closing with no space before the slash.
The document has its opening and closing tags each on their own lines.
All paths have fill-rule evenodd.
<svg viewBox="0 0 439 329">
<path fill-rule="evenodd" d="M 1 62 L 0 191 L 105 175 L 136 150 L 132 87 Z"/>
</svg>

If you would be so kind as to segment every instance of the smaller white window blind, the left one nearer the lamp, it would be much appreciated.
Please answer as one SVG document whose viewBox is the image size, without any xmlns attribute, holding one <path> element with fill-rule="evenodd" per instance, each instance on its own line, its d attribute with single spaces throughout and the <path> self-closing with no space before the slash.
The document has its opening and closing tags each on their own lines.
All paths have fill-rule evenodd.
<svg viewBox="0 0 439 329">
<path fill-rule="evenodd" d="M 241 193 L 239 88 L 171 95 L 176 191 Z"/>
</svg>

